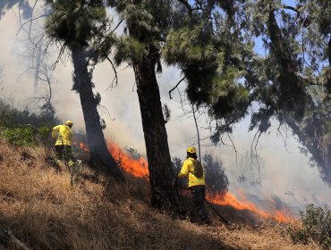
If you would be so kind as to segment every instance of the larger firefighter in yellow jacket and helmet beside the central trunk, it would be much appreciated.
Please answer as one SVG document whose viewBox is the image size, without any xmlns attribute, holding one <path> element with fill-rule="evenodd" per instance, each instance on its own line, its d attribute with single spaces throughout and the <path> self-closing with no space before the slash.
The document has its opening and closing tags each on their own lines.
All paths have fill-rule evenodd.
<svg viewBox="0 0 331 250">
<path fill-rule="evenodd" d="M 197 208 L 197 212 L 203 222 L 208 223 L 208 211 L 205 206 L 205 173 L 199 178 L 194 173 L 194 164 L 198 159 L 197 149 L 190 146 L 187 150 L 186 160 L 182 163 L 182 169 L 178 173 L 178 178 L 187 177 L 193 202 Z M 202 170 L 203 171 L 203 170 Z"/>
</svg>

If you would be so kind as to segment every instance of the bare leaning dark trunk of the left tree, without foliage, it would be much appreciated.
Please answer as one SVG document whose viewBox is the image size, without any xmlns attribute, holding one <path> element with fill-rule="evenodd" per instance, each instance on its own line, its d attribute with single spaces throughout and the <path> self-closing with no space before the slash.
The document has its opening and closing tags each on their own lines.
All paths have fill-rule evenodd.
<svg viewBox="0 0 331 250">
<path fill-rule="evenodd" d="M 101 163 L 106 171 L 116 179 L 123 179 L 114 157 L 108 152 L 105 137 L 98 114 L 98 100 L 93 94 L 92 76 L 87 68 L 87 52 L 85 48 L 72 49 L 72 62 L 74 67 L 73 87 L 81 98 L 81 108 L 85 121 L 86 135 L 89 143 L 89 155 L 92 163 Z"/>
</svg>

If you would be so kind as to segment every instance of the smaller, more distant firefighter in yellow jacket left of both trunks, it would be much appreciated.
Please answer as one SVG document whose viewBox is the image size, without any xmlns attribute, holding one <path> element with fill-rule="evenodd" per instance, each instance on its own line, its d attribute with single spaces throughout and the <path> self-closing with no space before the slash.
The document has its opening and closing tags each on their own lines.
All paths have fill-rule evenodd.
<svg viewBox="0 0 331 250">
<path fill-rule="evenodd" d="M 71 167 L 74 158 L 72 152 L 72 121 L 65 121 L 64 125 L 57 125 L 52 130 L 55 141 L 56 162 L 67 162 Z"/>
</svg>

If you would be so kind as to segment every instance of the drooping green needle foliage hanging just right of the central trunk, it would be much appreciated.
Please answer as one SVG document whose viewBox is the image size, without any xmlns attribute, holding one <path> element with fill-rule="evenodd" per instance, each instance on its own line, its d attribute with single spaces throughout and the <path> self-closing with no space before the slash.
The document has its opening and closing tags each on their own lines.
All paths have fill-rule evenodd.
<svg viewBox="0 0 331 250">
<path fill-rule="evenodd" d="M 215 130 L 219 135 L 231 132 L 231 124 L 247 112 L 250 94 L 242 79 L 252 48 L 229 26 L 234 18 L 230 5 L 220 9 L 212 2 L 202 1 L 190 17 L 177 16 L 181 21 L 174 21 L 177 24 L 166 37 L 163 54 L 166 63 L 182 69 L 191 102 L 207 105 L 211 117 L 222 121 Z"/>
</svg>

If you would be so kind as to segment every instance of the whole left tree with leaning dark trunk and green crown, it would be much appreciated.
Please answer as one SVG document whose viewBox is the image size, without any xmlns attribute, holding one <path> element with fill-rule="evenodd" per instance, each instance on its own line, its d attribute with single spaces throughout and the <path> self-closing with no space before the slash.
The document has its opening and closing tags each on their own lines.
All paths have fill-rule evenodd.
<svg viewBox="0 0 331 250">
<path fill-rule="evenodd" d="M 49 37 L 63 43 L 61 52 L 68 48 L 74 67 L 73 87 L 81 98 L 89 154 L 92 163 L 102 163 L 106 171 L 115 178 L 123 179 L 114 157 L 106 148 L 102 132 L 98 104 L 100 95 L 93 93 L 92 70 L 88 70 L 93 43 L 106 33 L 108 20 L 103 1 L 47 0 L 51 14 L 47 17 L 46 29 Z"/>
</svg>

